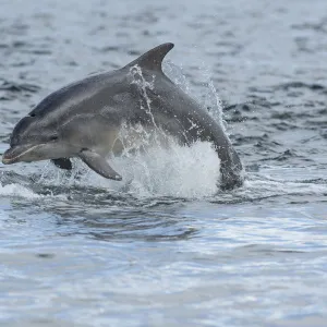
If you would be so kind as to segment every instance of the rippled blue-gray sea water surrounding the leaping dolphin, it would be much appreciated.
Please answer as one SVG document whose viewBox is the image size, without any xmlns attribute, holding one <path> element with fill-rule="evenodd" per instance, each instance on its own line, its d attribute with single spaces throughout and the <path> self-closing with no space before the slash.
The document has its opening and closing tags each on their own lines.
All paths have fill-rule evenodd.
<svg viewBox="0 0 327 327">
<path fill-rule="evenodd" d="M 326 326 L 327 1 L 2 0 L 0 153 L 46 95 L 175 44 L 165 71 L 246 168 L 213 148 L 0 166 L 1 326 Z"/>
</svg>

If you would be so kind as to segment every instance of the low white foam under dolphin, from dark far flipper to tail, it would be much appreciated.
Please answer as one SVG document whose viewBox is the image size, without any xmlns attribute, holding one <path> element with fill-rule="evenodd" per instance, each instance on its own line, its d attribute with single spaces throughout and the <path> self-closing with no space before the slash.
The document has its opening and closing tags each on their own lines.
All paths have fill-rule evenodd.
<svg viewBox="0 0 327 327">
<path fill-rule="evenodd" d="M 155 143 L 146 148 L 136 148 L 133 153 L 129 149 L 108 160 L 123 177 L 122 181 L 107 180 L 81 160 L 75 160 L 71 177 L 47 166 L 39 182 L 102 187 L 108 192 L 130 192 L 137 197 L 199 198 L 211 196 L 218 191 L 220 161 L 208 142 L 197 142 L 187 147 L 170 140 L 165 147 Z"/>
</svg>

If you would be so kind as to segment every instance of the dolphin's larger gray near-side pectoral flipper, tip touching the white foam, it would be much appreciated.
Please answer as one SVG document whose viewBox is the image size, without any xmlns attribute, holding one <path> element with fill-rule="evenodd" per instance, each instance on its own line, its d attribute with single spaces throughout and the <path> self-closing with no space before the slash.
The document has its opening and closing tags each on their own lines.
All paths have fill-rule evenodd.
<svg viewBox="0 0 327 327">
<path fill-rule="evenodd" d="M 99 154 L 84 149 L 80 153 L 80 158 L 95 172 L 102 175 L 106 179 L 121 181 L 122 177 L 116 172 L 107 160 Z"/>
</svg>

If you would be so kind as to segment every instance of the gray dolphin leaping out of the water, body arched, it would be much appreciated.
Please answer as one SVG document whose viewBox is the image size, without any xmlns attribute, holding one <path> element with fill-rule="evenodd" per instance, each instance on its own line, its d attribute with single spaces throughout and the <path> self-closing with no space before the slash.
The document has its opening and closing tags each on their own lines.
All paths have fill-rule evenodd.
<svg viewBox="0 0 327 327">
<path fill-rule="evenodd" d="M 89 75 L 47 96 L 16 124 L 2 162 L 50 159 L 70 170 L 70 158 L 80 157 L 100 175 L 120 181 L 106 156 L 118 153 L 123 124 L 138 124 L 185 145 L 211 142 L 220 159 L 220 187 L 242 185 L 242 164 L 223 129 L 164 74 L 162 60 L 172 48 L 160 45 L 120 70 Z"/>
</svg>

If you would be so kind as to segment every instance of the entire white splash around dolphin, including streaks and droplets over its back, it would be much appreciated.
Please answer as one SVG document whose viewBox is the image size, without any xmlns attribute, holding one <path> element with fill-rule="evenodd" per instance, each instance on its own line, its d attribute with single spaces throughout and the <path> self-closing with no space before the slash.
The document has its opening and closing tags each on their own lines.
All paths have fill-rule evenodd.
<svg viewBox="0 0 327 327">
<path fill-rule="evenodd" d="M 189 94 L 185 77 L 181 72 L 172 72 L 173 81 Z M 213 196 L 218 191 L 220 160 L 208 142 L 196 142 L 184 146 L 167 136 L 157 125 L 152 113 L 152 101 L 147 90 L 153 89 L 155 77 L 147 81 L 138 65 L 130 70 L 131 83 L 136 84 L 143 95 L 141 108 L 153 120 L 154 129 L 142 125 L 123 125 L 120 141 L 123 152 L 120 156 L 109 157 L 110 166 L 122 175 L 122 181 L 107 180 L 78 159 L 74 160 L 73 173 L 66 173 L 47 166 L 39 182 L 50 184 L 83 184 L 108 191 L 130 192 L 137 197 L 174 196 L 202 198 Z M 183 87 L 185 86 L 185 87 Z M 210 88 L 210 93 L 215 89 Z M 217 96 L 217 94 L 216 94 Z M 215 106 L 220 111 L 220 102 L 215 97 Z M 204 109 L 205 110 L 205 109 Z M 219 116 L 220 117 L 220 116 Z"/>
</svg>

